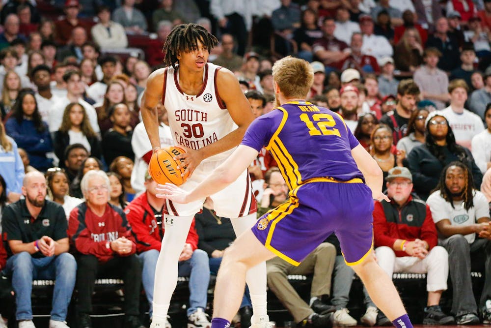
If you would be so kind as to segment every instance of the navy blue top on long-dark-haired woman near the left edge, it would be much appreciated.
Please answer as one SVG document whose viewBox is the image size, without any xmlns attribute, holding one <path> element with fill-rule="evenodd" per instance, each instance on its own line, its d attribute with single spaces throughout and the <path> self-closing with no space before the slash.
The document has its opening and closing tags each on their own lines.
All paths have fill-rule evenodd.
<svg viewBox="0 0 491 328">
<path fill-rule="evenodd" d="M 45 172 L 53 166 L 53 160 L 46 157 L 46 153 L 53 151 L 48 125 L 43 122 L 44 131 L 37 132 L 34 123 L 30 119 L 23 119 L 19 124 L 15 118 L 5 122 L 5 131 L 12 137 L 17 146 L 26 150 L 30 165 L 37 170 Z"/>
</svg>

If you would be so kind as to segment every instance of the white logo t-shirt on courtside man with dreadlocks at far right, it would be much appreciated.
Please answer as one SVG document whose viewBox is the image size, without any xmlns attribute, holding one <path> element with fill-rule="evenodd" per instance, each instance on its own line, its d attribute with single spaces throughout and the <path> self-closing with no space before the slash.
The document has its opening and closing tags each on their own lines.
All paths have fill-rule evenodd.
<svg viewBox="0 0 491 328">
<path fill-rule="evenodd" d="M 477 222 L 477 219 L 482 217 L 490 217 L 490 209 L 486 196 L 478 190 L 474 190 L 472 199 L 474 206 L 466 210 L 464 202 L 453 202 L 454 207 L 449 202 L 443 199 L 440 191 L 437 190 L 428 197 L 426 204 L 430 207 L 433 221 L 435 223 L 447 219 L 452 225 L 470 226 Z M 441 237 L 441 236 L 440 236 Z M 476 234 L 468 234 L 464 236 L 469 244 L 476 239 Z"/>
</svg>

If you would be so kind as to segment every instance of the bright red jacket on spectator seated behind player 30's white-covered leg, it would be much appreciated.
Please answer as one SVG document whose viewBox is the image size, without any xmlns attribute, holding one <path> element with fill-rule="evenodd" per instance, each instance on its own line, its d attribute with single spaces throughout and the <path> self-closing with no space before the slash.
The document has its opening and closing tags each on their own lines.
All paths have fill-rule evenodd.
<svg viewBox="0 0 491 328">
<path fill-rule="evenodd" d="M 160 252 L 164 237 L 164 213 L 162 213 L 162 221 L 158 223 L 153 209 L 148 204 L 147 193 L 144 192 L 136 197 L 124 212 L 136 235 L 136 251 L 141 253 L 156 249 Z M 198 248 L 198 234 L 194 227 L 194 219 L 192 219 L 186 242 L 191 244 L 193 251 Z"/>
</svg>

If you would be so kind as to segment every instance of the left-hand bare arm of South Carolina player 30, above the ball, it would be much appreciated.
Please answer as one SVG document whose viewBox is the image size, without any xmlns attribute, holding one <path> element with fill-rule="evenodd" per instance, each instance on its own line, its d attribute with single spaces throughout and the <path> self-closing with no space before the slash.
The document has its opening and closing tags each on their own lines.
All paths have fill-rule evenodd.
<svg viewBox="0 0 491 328">
<path fill-rule="evenodd" d="M 159 149 L 159 117 L 157 115 L 157 104 L 162 101 L 162 90 L 164 89 L 164 68 L 154 71 L 147 79 L 147 86 L 141 98 L 141 119 L 145 125 L 152 149 Z"/>
</svg>

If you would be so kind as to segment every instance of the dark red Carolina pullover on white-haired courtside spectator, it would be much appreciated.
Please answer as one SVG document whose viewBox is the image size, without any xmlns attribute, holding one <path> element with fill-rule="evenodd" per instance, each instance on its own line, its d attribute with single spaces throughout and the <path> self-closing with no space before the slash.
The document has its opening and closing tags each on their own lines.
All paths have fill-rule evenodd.
<svg viewBox="0 0 491 328">
<path fill-rule="evenodd" d="M 133 247 L 128 254 L 117 254 L 112 251 L 110 242 L 120 237 L 133 241 Z M 99 261 L 107 262 L 114 256 L 128 256 L 136 252 L 136 240 L 126 215 L 109 203 L 103 216 L 97 216 L 82 203 L 70 212 L 68 221 L 68 238 L 77 252 L 95 255 Z"/>
</svg>

